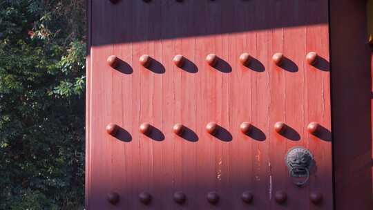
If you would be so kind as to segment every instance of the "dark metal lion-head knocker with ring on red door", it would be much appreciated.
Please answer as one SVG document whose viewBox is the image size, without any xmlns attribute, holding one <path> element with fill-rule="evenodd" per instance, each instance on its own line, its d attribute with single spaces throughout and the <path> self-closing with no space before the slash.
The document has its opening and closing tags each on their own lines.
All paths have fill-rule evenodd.
<svg viewBox="0 0 373 210">
<path fill-rule="evenodd" d="M 291 178 L 305 178 L 302 182 L 294 182 L 298 187 L 307 184 L 309 171 L 315 164 L 314 155 L 302 146 L 295 146 L 285 156 L 285 164 Z"/>
</svg>

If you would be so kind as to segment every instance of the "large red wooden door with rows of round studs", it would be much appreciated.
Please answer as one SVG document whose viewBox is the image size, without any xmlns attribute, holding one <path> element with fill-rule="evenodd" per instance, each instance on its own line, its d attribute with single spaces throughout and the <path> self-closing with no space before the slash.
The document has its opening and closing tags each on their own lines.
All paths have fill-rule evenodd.
<svg viewBox="0 0 373 210">
<path fill-rule="evenodd" d="M 88 5 L 87 209 L 332 209 L 326 0 Z M 314 156 L 302 187 L 285 165 L 294 146 Z"/>
</svg>

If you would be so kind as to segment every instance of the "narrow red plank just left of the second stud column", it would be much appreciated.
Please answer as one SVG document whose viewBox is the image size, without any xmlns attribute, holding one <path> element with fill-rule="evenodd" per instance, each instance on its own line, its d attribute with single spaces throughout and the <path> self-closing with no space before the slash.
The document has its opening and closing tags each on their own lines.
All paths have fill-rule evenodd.
<svg viewBox="0 0 373 210">
<path fill-rule="evenodd" d="M 149 11 L 144 8 L 142 1 L 136 1 L 132 3 L 133 7 L 133 37 L 140 36 L 146 40 L 147 34 L 147 19 Z M 142 14 L 142 13 L 145 14 Z M 131 144 L 131 155 L 132 155 L 132 169 L 128 170 L 132 176 L 132 187 L 133 195 L 131 199 L 134 203 L 134 209 L 146 209 L 143 204 L 138 201 L 138 195 L 142 191 L 149 191 L 149 176 L 151 170 L 149 169 L 149 140 L 139 132 L 140 124 L 148 119 L 144 119 L 144 110 L 151 106 L 151 104 L 144 104 L 143 95 L 149 95 L 149 82 L 144 82 L 144 76 L 149 77 L 149 72 L 139 64 L 139 58 L 147 52 L 148 46 L 146 41 L 134 42 L 132 46 L 132 62 L 133 62 L 133 101 L 132 106 L 137 113 L 136 117 L 133 117 L 133 144 Z M 148 91 L 146 91 L 148 90 Z M 147 105 L 147 106 L 146 106 Z"/>
</svg>

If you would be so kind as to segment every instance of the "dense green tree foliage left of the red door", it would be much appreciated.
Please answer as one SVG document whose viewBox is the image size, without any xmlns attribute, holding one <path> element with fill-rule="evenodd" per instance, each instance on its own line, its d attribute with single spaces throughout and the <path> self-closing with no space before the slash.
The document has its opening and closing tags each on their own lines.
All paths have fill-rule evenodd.
<svg viewBox="0 0 373 210">
<path fill-rule="evenodd" d="M 0 209 L 83 209 L 85 1 L 0 0 Z"/>
</svg>

